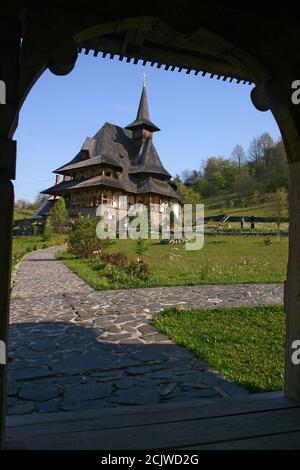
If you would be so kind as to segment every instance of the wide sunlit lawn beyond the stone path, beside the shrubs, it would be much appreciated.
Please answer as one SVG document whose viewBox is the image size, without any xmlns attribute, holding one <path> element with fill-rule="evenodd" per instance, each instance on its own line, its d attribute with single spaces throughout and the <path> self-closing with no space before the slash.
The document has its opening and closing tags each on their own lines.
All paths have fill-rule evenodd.
<svg viewBox="0 0 300 470">
<path fill-rule="evenodd" d="M 188 251 L 183 245 L 162 245 L 147 240 L 143 260 L 151 266 L 147 280 L 112 276 L 95 269 L 90 260 L 62 253 L 61 259 L 97 290 L 196 284 L 237 284 L 283 282 L 286 275 L 288 239 L 272 237 L 207 236 L 204 248 Z M 134 259 L 136 242 L 117 240 L 110 251 L 123 251 Z"/>
</svg>

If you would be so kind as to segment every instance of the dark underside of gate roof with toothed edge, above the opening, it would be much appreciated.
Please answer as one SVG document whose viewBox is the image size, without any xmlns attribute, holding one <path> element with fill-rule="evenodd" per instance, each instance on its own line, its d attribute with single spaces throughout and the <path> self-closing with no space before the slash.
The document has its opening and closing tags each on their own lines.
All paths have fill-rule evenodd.
<svg viewBox="0 0 300 470">
<path fill-rule="evenodd" d="M 269 77 L 259 62 L 226 38 L 204 27 L 188 34 L 178 32 L 157 17 L 96 24 L 76 33 L 74 40 L 86 53 L 93 50 L 94 55 L 116 54 L 119 60 L 127 62 L 131 59 L 134 63 L 141 60 L 143 64 L 154 65 L 156 62 L 158 67 L 163 65 L 166 69 L 178 67 L 187 73 L 201 71 L 217 78 L 245 82 Z"/>
</svg>

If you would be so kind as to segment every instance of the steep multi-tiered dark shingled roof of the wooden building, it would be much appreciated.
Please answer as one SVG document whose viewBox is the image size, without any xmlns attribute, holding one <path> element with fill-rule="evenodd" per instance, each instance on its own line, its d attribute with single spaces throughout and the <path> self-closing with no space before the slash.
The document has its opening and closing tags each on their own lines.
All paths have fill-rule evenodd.
<svg viewBox="0 0 300 470">
<path fill-rule="evenodd" d="M 150 131 L 150 136 L 137 142 L 133 139 L 136 128 Z M 43 193 L 57 195 L 89 186 L 110 186 L 134 194 L 153 192 L 178 198 L 174 185 L 169 181 L 171 175 L 164 168 L 153 144 L 152 132 L 156 130 L 159 129 L 150 120 L 146 87 L 143 86 L 136 120 L 125 128 L 106 122 L 94 137 L 85 139 L 71 161 L 54 171 L 63 174 L 64 181 Z M 72 178 L 76 170 L 95 166 L 113 168 L 119 172 L 118 179 L 104 175 L 81 180 Z"/>
</svg>

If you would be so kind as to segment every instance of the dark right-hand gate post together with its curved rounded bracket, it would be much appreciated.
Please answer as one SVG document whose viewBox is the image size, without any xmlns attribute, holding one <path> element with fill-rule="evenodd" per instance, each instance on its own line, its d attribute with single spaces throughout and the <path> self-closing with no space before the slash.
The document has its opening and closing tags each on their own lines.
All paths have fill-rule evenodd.
<svg viewBox="0 0 300 470">
<path fill-rule="evenodd" d="M 292 103 L 292 81 L 291 77 L 286 76 L 262 82 L 252 90 L 251 99 L 258 110 L 272 111 L 289 162 L 289 259 L 287 281 L 284 283 L 284 390 L 287 398 L 299 401 L 300 364 L 293 363 L 292 356 L 297 347 L 295 342 L 300 340 L 300 105 Z"/>
</svg>

